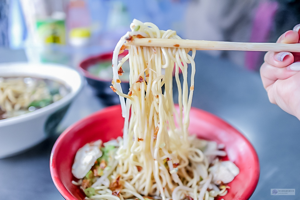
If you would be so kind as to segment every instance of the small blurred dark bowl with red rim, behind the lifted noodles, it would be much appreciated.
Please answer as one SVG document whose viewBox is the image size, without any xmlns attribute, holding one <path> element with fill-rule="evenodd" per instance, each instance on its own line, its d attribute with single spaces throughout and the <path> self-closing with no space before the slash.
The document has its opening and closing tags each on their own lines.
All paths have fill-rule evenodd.
<svg viewBox="0 0 300 200">
<path fill-rule="evenodd" d="M 127 54 L 127 51 L 120 54 L 119 60 Z M 119 95 L 117 95 L 110 88 L 113 79 L 112 59 L 113 52 L 108 52 L 97 56 L 89 57 L 79 64 L 80 70 L 83 72 L 88 84 L 91 85 L 91 87 L 93 88 L 95 95 L 98 96 L 101 99 L 102 103 L 104 103 L 107 106 L 120 104 Z M 129 73 L 129 68 L 124 68 L 123 66 L 122 68 L 125 71 L 125 73 Z M 125 73 L 123 76 L 127 76 L 127 74 Z M 120 76 L 120 79 L 121 78 L 123 77 Z M 121 81 L 123 93 L 127 94 L 129 90 L 129 75 L 128 79 L 127 77 L 125 77 Z"/>
</svg>

